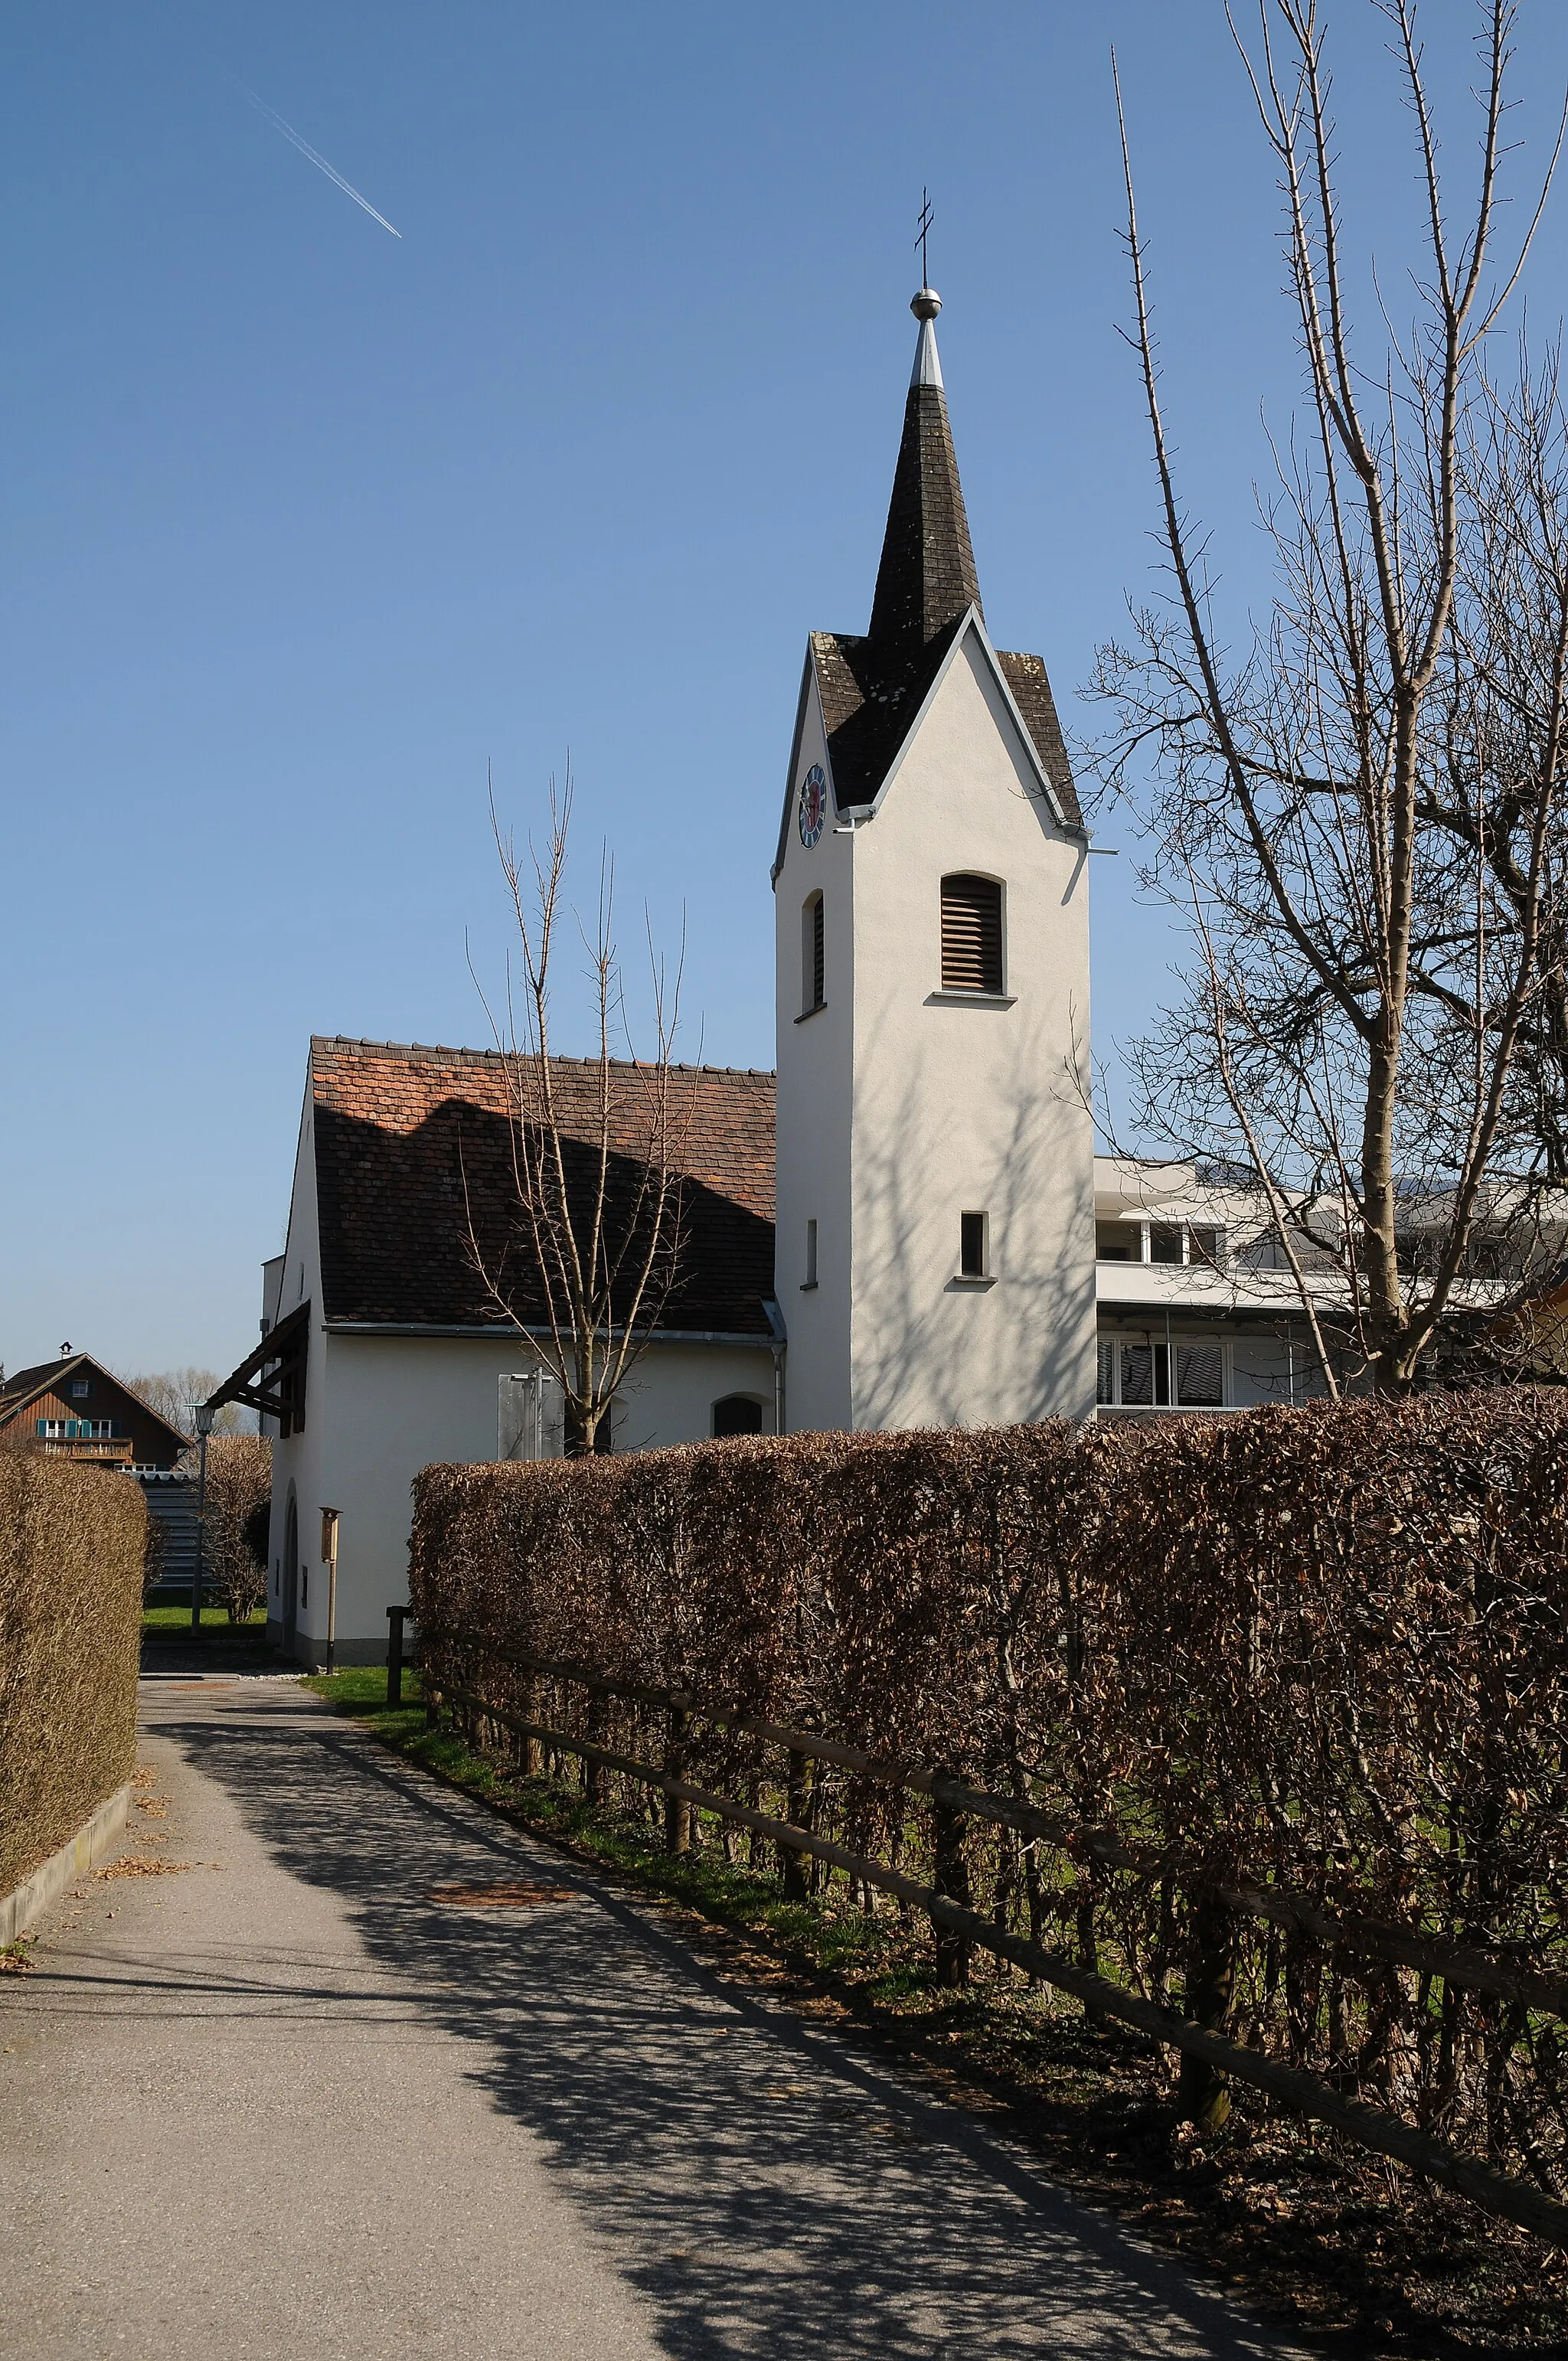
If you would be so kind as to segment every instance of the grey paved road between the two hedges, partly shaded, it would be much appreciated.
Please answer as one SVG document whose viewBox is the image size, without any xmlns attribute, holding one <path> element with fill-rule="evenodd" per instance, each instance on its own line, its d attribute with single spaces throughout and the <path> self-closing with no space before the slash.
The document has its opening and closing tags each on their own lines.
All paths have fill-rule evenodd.
<svg viewBox="0 0 1568 2361">
<path fill-rule="evenodd" d="M 1285 2352 L 295 1683 L 146 1681 L 144 1761 L 194 1865 L 0 1979 L 14 2361 Z"/>
</svg>

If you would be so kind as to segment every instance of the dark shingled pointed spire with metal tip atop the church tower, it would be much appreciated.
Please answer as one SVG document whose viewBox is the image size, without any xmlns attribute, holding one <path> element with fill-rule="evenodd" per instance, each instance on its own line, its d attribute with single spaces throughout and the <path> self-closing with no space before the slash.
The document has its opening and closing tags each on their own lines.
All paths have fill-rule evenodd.
<svg viewBox="0 0 1568 2361">
<path fill-rule="evenodd" d="M 933 288 L 921 288 L 909 309 L 921 323 L 921 338 L 914 349 L 904 439 L 893 470 L 888 531 L 867 635 L 881 661 L 919 656 L 940 630 L 959 621 L 966 607 L 980 604 L 937 359 L 935 316 L 942 297 Z"/>
</svg>

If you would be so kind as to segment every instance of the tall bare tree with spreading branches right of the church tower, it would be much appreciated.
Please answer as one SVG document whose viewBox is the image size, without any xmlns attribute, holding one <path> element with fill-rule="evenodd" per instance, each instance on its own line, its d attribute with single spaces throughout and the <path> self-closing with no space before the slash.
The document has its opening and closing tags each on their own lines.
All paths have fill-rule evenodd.
<svg viewBox="0 0 1568 2361">
<path fill-rule="evenodd" d="M 1115 706 L 1100 786 L 1138 798 L 1152 772 L 1143 874 L 1200 947 L 1188 996 L 1136 1046 L 1138 1112 L 1252 1166 L 1304 1303 L 1337 1273 L 1353 1360 L 1398 1391 L 1488 1256 L 1492 1277 L 1544 1261 L 1544 1192 L 1568 1178 L 1568 425 L 1556 349 L 1533 366 L 1521 345 L 1507 387 L 1488 359 L 1563 135 L 1497 262 L 1516 7 L 1478 9 L 1481 149 L 1455 229 L 1412 0 L 1370 5 L 1424 234 L 1412 321 L 1384 312 L 1365 359 L 1318 0 L 1259 0 L 1249 38 L 1233 21 L 1280 172 L 1308 394 L 1263 505 L 1270 611 L 1240 652 L 1176 489 L 1122 118 L 1169 588 L 1098 652 L 1091 689 Z"/>
</svg>

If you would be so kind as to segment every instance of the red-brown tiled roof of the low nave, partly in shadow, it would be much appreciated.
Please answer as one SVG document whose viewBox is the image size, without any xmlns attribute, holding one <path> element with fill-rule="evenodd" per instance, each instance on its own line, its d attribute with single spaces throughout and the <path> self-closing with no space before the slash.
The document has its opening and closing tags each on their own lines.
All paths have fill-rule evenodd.
<svg viewBox="0 0 1568 2361">
<path fill-rule="evenodd" d="M 595 1140 L 597 1065 L 553 1060 L 562 1131 Z M 616 1062 L 612 1188 L 635 1188 L 656 1070 Z M 767 1336 L 772 1294 L 772 1074 L 675 1067 L 682 1280 L 666 1329 Z M 328 1322 L 505 1325 L 486 1299 L 468 1221 L 524 1320 L 543 1320 L 538 1270 L 512 1183 L 508 1060 L 494 1051 L 312 1041 L 321 1296 Z"/>
</svg>

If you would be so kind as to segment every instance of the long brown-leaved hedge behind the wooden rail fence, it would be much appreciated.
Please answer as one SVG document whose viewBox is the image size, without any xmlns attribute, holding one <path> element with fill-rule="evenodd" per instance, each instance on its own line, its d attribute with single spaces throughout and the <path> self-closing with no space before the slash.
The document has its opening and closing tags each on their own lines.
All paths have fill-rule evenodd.
<svg viewBox="0 0 1568 2361">
<path fill-rule="evenodd" d="M 1193 1997 L 1216 1891 L 1299 1898 L 1226 1919 L 1207 2021 L 1561 2193 L 1568 1393 L 437 1466 L 411 1601 L 432 1681 L 638 1759 L 649 1707 L 510 1653 L 1056 1813 L 1060 1842 L 975 1830 L 975 1908 L 1157 2000 Z M 782 1794 L 777 1750 L 699 1716 L 687 1761 Z M 817 1766 L 808 1809 L 914 1863 L 909 1801 Z"/>
</svg>

